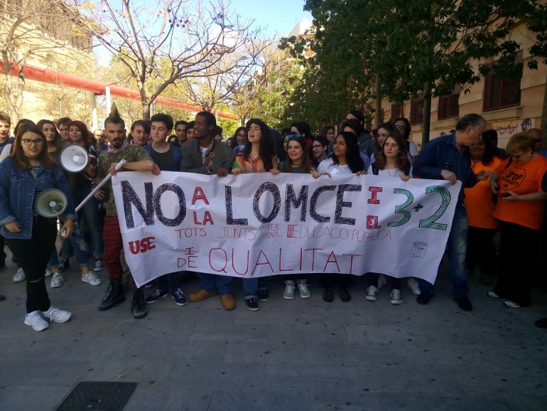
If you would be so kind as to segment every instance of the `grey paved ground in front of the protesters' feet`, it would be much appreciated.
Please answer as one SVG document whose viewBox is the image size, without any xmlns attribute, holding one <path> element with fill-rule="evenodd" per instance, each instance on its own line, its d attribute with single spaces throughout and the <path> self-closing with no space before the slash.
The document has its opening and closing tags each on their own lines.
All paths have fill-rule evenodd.
<svg viewBox="0 0 547 411">
<path fill-rule="evenodd" d="M 46 282 L 72 319 L 36 332 L 23 324 L 25 283 L 11 281 L 15 271 L 8 263 L 0 272 L 0 410 L 55 410 L 80 381 L 138 383 L 124 410 L 547 410 L 539 290 L 534 306 L 511 310 L 474 276 L 474 311 L 465 312 L 446 272 L 427 306 L 406 287 L 401 306 L 390 304 L 389 287 L 366 301 L 359 277 L 349 303 L 325 303 L 315 281 L 310 299 L 297 291 L 286 301 L 274 277 L 260 311 L 245 307 L 239 283 L 234 311 L 218 297 L 183 307 L 164 298 L 136 320 L 131 291 L 97 311 L 106 271 L 92 287 L 71 268 L 63 287 Z"/>
</svg>

